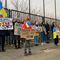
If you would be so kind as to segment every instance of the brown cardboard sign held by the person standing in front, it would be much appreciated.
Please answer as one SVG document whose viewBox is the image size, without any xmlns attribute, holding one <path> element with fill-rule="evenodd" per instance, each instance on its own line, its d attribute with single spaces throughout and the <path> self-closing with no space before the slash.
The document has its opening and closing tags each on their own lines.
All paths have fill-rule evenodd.
<svg viewBox="0 0 60 60">
<path fill-rule="evenodd" d="M 20 36 L 21 38 L 25 38 L 26 40 L 33 40 L 34 39 L 34 36 L 35 36 L 35 30 L 33 29 L 24 29 L 24 30 L 21 30 L 21 33 L 20 33 Z"/>
</svg>

